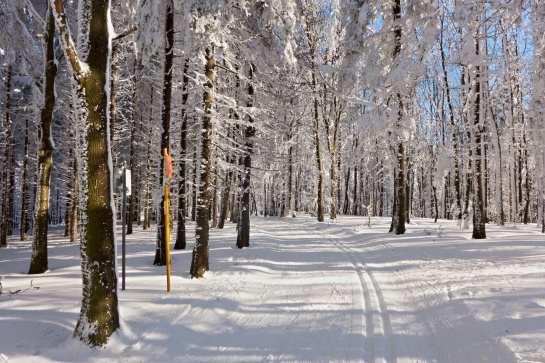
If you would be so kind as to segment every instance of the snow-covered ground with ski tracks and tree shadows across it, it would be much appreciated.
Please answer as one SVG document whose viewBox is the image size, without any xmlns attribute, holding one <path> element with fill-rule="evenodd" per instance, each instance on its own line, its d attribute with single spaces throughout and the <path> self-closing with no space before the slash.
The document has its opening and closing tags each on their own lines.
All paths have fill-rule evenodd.
<svg viewBox="0 0 545 363">
<path fill-rule="evenodd" d="M 53 229 L 50 271 L 29 276 L 30 242 L 14 236 L 0 250 L 0 362 L 545 362 L 535 225 L 471 240 L 450 221 L 414 219 L 404 236 L 371 222 L 256 217 L 243 250 L 233 225 L 212 230 L 211 271 L 189 279 L 193 243 L 172 250 L 169 293 L 155 230 L 137 228 L 122 328 L 103 349 L 72 338 L 79 246 Z"/>
</svg>

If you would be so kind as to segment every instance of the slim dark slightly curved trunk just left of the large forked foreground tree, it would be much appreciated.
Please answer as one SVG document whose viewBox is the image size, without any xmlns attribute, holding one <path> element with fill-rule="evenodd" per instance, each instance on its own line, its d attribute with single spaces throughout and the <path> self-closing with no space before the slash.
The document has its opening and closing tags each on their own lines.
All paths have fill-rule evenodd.
<svg viewBox="0 0 545 363">
<path fill-rule="evenodd" d="M 55 19 L 51 6 L 47 10 L 46 24 L 44 106 L 40 114 L 40 135 L 42 136 L 42 140 L 38 154 L 39 183 L 36 196 L 38 202 L 34 215 L 34 239 L 32 241 L 32 258 L 30 260 L 29 274 L 40 274 L 47 271 L 49 188 L 53 154 L 51 122 L 53 120 L 53 109 L 55 108 L 55 77 L 57 75 L 54 49 Z"/>
</svg>

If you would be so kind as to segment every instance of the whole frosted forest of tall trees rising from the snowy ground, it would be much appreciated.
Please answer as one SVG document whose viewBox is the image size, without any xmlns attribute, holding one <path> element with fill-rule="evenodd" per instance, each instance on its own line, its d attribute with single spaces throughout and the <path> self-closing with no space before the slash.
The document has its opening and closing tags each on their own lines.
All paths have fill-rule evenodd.
<svg viewBox="0 0 545 363">
<path fill-rule="evenodd" d="M 88 345 L 119 328 L 122 219 L 155 266 L 194 235 L 192 278 L 251 216 L 545 233 L 543 1 L 0 0 L 0 27 L 0 247 L 42 274 L 48 228 L 80 244 Z"/>
</svg>

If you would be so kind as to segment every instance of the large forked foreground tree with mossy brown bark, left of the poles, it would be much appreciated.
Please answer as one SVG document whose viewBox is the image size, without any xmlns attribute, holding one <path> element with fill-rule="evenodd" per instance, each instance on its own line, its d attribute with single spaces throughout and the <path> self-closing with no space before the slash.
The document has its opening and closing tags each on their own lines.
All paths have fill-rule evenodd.
<svg viewBox="0 0 545 363">
<path fill-rule="evenodd" d="M 83 297 L 74 336 L 90 346 L 102 346 L 119 328 L 113 170 L 108 138 L 110 1 L 82 0 L 77 50 L 67 26 L 63 1 L 50 0 L 50 4 L 78 95 Z"/>
</svg>

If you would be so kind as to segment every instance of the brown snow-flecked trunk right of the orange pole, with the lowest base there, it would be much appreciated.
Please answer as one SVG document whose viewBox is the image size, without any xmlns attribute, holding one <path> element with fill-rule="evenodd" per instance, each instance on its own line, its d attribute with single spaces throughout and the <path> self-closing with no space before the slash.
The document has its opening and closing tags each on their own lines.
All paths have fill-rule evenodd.
<svg viewBox="0 0 545 363">
<path fill-rule="evenodd" d="M 201 153 L 201 181 L 199 183 L 198 205 L 196 211 L 197 228 L 195 232 L 195 247 L 191 259 L 191 278 L 201 278 L 209 270 L 209 238 L 210 226 L 208 215 L 210 208 L 210 172 L 212 168 L 212 92 L 214 90 L 214 69 L 216 59 L 214 49 L 209 46 L 205 49 L 205 75 L 204 84 L 204 117 L 202 124 L 202 153 Z"/>
</svg>

